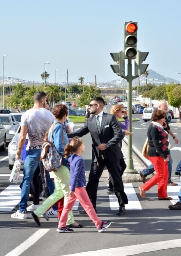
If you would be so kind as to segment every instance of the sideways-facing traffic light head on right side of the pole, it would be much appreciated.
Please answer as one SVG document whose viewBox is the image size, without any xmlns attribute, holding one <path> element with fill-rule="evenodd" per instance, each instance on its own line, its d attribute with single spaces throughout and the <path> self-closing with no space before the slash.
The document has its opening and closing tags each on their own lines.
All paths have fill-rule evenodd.
<svg viewBox="0 0 181 256">
<path fill-rule="evenodd" d="M 137 51 L 135 59 L 135 76 L 140 76 L 146 71 L 148 64 L 142 64 L 142 62 L 146 60 L 148 53 L 149 52 Z"/>
</svg>

